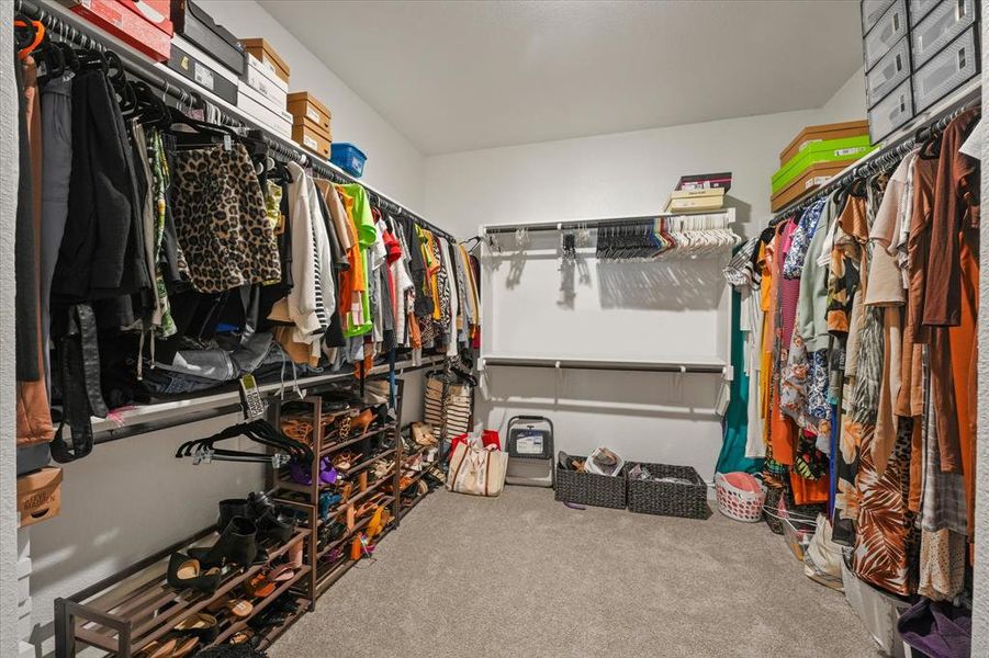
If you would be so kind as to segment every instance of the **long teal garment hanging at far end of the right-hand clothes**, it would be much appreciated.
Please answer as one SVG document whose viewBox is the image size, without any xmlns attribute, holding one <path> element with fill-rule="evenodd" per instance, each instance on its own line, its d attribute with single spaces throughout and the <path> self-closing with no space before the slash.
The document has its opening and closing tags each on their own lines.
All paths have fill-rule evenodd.
<svg viewBox="0 0 989 658">
<path fill-rule="evenodd" d="M 745 374 L 745 339 L 740 329 L 742 317 L 742 296 L 738 291 L 731 292 L 731 365 L 734 379 L 731 383 L 731 401 L 724 415 L 724 442 L 718 455 L 718 473 L 762 473 L 764 460 L 750 460 L 745 456 L 745 442 L 749 434 L 749 375 Z"/>
</svg>

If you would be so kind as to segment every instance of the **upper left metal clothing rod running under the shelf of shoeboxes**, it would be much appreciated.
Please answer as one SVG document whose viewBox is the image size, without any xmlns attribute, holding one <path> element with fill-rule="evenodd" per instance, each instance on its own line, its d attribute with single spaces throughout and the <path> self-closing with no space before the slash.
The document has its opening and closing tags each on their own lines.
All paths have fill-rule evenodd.
<svg viewBox="0 0 989 658">
<path fill-rule="evenodd" d="M 108 49 L 105 44 L 109 36 L 94 27 L 86 25 L 85 21 L 77 19 L 74 14 L 56 13 L 54 10 L 46 9 L 34 0 L 16 0 L 14 10 L 33 20 L 41 21 L 52 34 L 57 35 L 65 42 L 82 48 L 94 48 L 98 50 Z M 120 55 L 124 70 L 130 77 L 147 82 L 149 86 L 175 99 L 178 103 L 188 106 L 203 107 L 207 102 L 205 101 L 205 98 L 209 95 L 209 92 L 196 89 L 191 82 L 187 82 L 178 75 L 171 76 L 170 71 L 166 72 L 165 69 L 156 68 L 155 65 L 143 57 L 135 56 L 127 46 L 116 47 L 114 45 L 110 49 L 113 49 Z M 236 106 L 229 105 L 220 99 L 211 100 L 209 102 L 216 109 L 220 114 L 221 123 L 224 125 L 259 131 L 263 140 L 268 144 L 274 155 L 299 162 L 303 166 L 308 166 L 319 175 L 331 179 L 335 182 L 360 183 L 368 190 L 368 194 L 374 205 L 396 215 L 404 215 L 416 224 L 420 224 L 428 228 L 431 232 L 439 234 L 448 240 L 456 241 L 456 238 L 449 231 L 437 227 L 435 224 L 416 213 L 413 213 L 407 207 L 390 198 L 385 194 L 382 194 L 378 190 L 374 190 L 367 183 L 349 175 L 329 162 L 317 160 L 288 139 L 271 134 L 252 118 L 239 112 Z"/>
</svg>

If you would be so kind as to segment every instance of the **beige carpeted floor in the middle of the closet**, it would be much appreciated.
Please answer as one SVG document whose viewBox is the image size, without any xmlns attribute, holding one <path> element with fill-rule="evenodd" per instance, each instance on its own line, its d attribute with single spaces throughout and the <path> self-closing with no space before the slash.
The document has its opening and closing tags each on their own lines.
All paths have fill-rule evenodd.
<svg viewBox="0 0 989 658">
<path fill-rule="evenodd" d="M 430 495 L 271 658 L 875 657 L 763 523 Z"/>
</svg>

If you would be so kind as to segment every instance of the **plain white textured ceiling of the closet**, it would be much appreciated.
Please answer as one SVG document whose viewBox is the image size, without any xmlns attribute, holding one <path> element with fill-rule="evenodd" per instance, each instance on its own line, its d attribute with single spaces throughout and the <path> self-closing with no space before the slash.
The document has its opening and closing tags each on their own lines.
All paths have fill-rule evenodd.
<svg viewBox="0 0 989 658">
<path fill-rule="evenodd" d="M 862 63 L 856 0 L 261 4 L 427 155 L 818 107 Z"/>
</svg>

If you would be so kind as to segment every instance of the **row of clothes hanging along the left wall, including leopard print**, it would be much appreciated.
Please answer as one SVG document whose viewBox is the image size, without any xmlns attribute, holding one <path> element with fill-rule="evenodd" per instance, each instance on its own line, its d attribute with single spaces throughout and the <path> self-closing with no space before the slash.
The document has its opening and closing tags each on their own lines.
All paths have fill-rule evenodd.
<svg viewBox="0 0 989 658">
<path fill-rule="evenodd" d="M 364 372 L 394 350 L 453 355 L 476 338 L 473 257 L 454 241 L 347 178 L 313 178 L 277 140 L 167 104 L 203 103 L 167 81 L 159 95 L 112 50 L 64 49 L 38 12 L 56 27 L 36 55 L 71 65 L 44 79 L 32 56 L 20 65 L 22 444 L 54 434 L 67 462 L 113 408 L 247 373 Z M 419 288 L 414 260 L 428 263 Z"/>
</svg>

